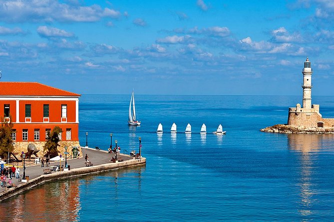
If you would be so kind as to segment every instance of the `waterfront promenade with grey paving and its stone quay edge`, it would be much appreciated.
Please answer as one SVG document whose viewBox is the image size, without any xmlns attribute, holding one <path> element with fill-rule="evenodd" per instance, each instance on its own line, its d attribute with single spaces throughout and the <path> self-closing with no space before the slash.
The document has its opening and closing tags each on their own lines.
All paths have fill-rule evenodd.
<svg viewBox="0 0 334 222">
<path fill-rule="evenodd" d="M 88 160 L 93 164 L 93 166 L 86 166 L 86 161 L 84 159 L 84 156 L 86 154 L 88 155 Z M 59 165 L 59 161 L 50 162 L 50 165 L 48 167 L 46 167 L 46 164 L 44 165 L 44 167 L 41 167 L 41 164 L 33 164 L 31 166 L 26 165 L 25 176 L 29 176 L 29 181 L 18 182 L 17 179 L 12 178 L 12 182 L 17 187 L 9 189 L 0 187 L 0 201 L 14 196 L 22 191 L 26 191 L 46 181 L 146 164 L 145 158 L 134 159 L 134 157 L 131 157 L 129 155 L 117 154 L 117 159 L 121 158 L 124 161 L 113 163 L 112 161 L 110 161 L 112 157 L 115 157 L 115 154 L 108 153 L 105 150 L 96 150 L 93 148 L 82 147 L 82 154 L 80 154 L 80 158 L 67 159 L 67 165 L 70 166 L 69 171 L 43 174 L 43 169 L 52 169 L 52 166 Z M 60 164 L 65 166 L 65 160 L 61 161 Z M 13 165 L 16 166 L 16 163 L 13 163 Z M 20 174 L 23 174 L 23 168 L 21 167 L 21 165 Z"/>
</svg>

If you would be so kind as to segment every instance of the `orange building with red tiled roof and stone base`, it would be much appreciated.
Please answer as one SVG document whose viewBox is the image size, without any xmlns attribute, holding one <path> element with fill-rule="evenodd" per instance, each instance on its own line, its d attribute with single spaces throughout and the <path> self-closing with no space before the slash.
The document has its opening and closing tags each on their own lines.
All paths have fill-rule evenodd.
<svg viewBox="0 0 334 222">
<path fill-rule="evenodd" d="M 29 143 L 42 151 L 54 126 L 62 129 L 61 147 L 79 146 L 79 97 L 40 83 L 0 82 L 0 116 L 14 124 L 15 151 L 26 152 Z"/>
</svg>

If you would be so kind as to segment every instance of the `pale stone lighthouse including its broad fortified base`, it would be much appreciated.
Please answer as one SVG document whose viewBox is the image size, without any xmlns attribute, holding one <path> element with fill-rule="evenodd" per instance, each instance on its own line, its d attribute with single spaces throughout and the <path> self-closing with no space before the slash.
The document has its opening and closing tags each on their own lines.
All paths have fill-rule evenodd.
<svg viewBox="0 0 334 222">
<path fill-rule="evenodd" d="M 288 125 L 299 127 L 334 127 L 334 118 L 323 118 L 319 105 L 312 105 L 312 73 L 309 58 L 304 62 L 303 73 L 303 107 L 297 104 L 289 108 Z"/>
</svg>

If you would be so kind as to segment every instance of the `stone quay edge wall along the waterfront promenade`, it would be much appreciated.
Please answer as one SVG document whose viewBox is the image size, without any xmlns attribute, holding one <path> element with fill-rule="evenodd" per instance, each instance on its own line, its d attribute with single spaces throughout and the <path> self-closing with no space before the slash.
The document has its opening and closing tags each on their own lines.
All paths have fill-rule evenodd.
<svg viewBox="0 0 334 222">
<path fill-rule="evenodd" d="M 117 170 L 120 168 L 129 168 L 129 167 L 135 167 L 135 166 L 142 166 L 146 165 L 146 158 L 142 157 L 141 159 L 131 159 L 126 160 L 123 162 L 118 163 L 106 163 L 91 167 L 80 167 L 71 169 L 69 171 L 61 171 L 61 172 L 52 172 L 51 174 L 43 174 L 39 177 L 33 178 L 29 180 L 26 183 L 22 183 L 17 185 L 15 188 L 9 188 L 6 191 L 0 193 L 0 202 L 2 202 L 5 199 L 8 199 L 10 197 L 13 197 L 19 193 L 22 193 L 24 191 L 28 191 L 33 187 L 36 187 L 38 185 L 44 184 L 45 182 L 49 182 L 52 180 L 59 180 L 59 179 L 65 179 L 70 177 L 78 177 L 88 174 L 96 174 L 100 172 L 110 171 L 110 170 Z"/>
</svg>

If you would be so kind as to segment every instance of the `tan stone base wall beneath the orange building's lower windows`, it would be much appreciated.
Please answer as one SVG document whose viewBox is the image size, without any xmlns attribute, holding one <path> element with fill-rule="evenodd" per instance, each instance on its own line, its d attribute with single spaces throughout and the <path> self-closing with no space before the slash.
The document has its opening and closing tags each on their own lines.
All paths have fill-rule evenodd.
<svg viewBox="0 0 334 222">
<path fill-rule="evenodd" d="M 44 145 L 45 145 L 45 141 L 34 141 L 34 142 L 15 142 L 14 145 L 14 154 L 16 154 L 16 157 L 19 159 L 22 151 L 23 152 L 27 152 L 27 147 L 28 144 L 32 143 L 36 146 L 36 148 L 39 150 L 39 152 L 37 153 L 38 157 L 44 156 L 46 152 L 43 151 L 44 149 Z M 72 147 L 76 146 L 78 147 L 78 150 L 81 151 L 81 147 L 79 144 L 79 141 L 60 141 L 58 146 L 58 151 L 60 151 L 59 154 L 64 155 L 65 152 L 65 146 L 67 146 L 67 152 L 69 152 L 69 154 L 72 154 Z M 32 158 L 35 157 L 34 155 L 31 156 Z"/>
</svg>

